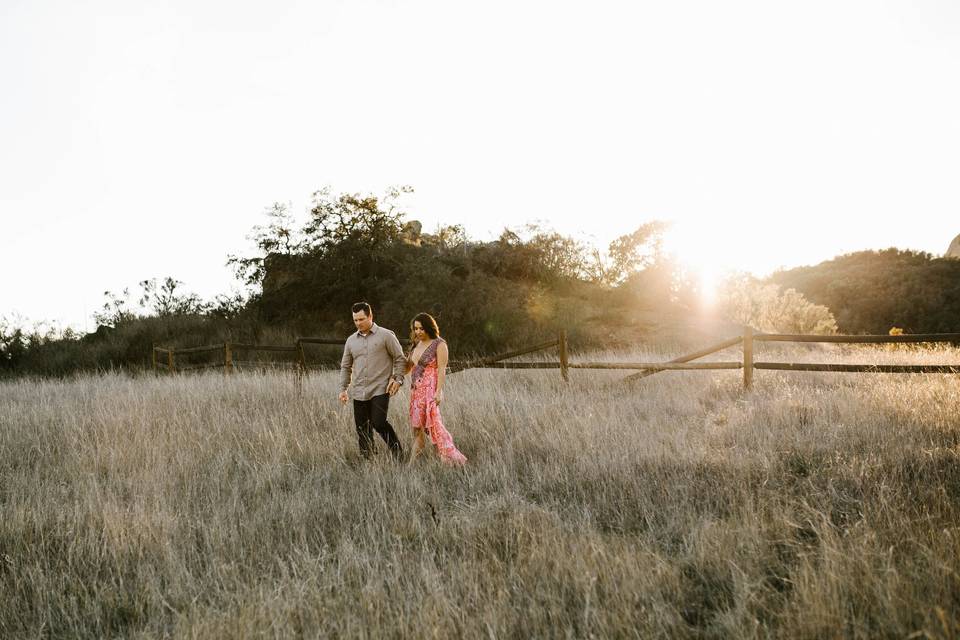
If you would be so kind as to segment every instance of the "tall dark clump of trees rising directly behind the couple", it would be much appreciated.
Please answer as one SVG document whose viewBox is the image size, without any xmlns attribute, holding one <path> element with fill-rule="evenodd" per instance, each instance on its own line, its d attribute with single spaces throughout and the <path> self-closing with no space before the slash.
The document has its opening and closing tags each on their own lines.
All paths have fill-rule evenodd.
<svg viewBox="0 0 960 640">
<path fill-rule="evenodd" d="M 586 346 L 602 335 L 586 325 L 607 318 L 613 329 L 636 305 L 636 287 L 618 290 L 611 283 L 656 264 L 664 229 L 650 223 L 616 241 L 611 251 L 617 248 L 620 258 L 598 277 L 587 247 L 533 225 L 504 230 L 492 242 L 470 241 L 458 227 L 411 233 L 397 206 L 405 192 L 393 190 L 378 200 L 318 191 L 300 231 L 285 224 L 270 236 L 269 228 L 258 228 L 258 249 L 277 250 L 231 259 L 259 269 L 248 272 L 259 275 L 263 290 L 251 307 L 269 325 L 324 336 L 352 331 L 345 310 L 360 300 L 370 302 L 377 322 L 401 337 L 410 318 L 426 311 L 437 317 L 460 357 L 542 340 L 561 328 Z M 285 245 L 291 237 L 296 242 Z M 671 306 L 670 292 L 662 293 L 658 303 Z M 620 313 L 608 313 L 610 308 Z"/>
</svg>

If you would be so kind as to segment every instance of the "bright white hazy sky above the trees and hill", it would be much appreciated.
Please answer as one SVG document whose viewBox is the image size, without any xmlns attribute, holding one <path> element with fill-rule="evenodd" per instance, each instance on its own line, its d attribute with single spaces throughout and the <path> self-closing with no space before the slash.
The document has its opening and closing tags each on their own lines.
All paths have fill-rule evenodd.
<svg viewBox="0 0 960 640">
<path fill-rule="evenodd" d="M 226 292 L 274 201 L 653 220 L 769 272 L 960 233 L 960 3 L 0 0 L 0 316 Z"/>
</svg>

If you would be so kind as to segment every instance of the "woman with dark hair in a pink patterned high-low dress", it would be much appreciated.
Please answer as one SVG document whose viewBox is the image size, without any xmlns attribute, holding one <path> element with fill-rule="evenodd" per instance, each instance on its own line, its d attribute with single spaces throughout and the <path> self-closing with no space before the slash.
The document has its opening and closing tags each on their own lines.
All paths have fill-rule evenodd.
<svg viewBox="0 0 960 640">
<path fill-rule="evenodd" d="M 430 436 L 437 455 L 449 464 L 463 464 L 466 456 L 457 450 L 453 438 L 440 417 L 443 385 L 447 379 L 450 351 L 440 337 L 437 321 L 428 313 L 420 313 L 410 323 L 413 348 L 407 356 L 407 372 L 413 372 L 410 386 L 410 425 L 413 427 L 413 451 L 410 463 L 426 446 Z"/>
</svg>

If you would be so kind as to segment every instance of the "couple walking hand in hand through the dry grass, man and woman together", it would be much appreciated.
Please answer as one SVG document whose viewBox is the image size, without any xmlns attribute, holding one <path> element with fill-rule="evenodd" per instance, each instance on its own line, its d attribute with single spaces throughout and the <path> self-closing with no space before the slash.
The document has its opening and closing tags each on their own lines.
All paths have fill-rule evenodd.
<svg viewBox="0 0 960 640">
<path fill-rule="evenodd" d="M 461 465 L 467 458 L 457 450 L 443 425 L 440 403 L 446 381 L 447 343 L 440 337 L 437 321 L 428 313 L 418 314 L 410 323 L 412 346 L 405 354 L 393 331 L 373 321 L 373 310 L 366 302 L 353 305 L 353 324 L 357 331 L 347 338 L 340 360 L 340 402 L 353 400 L 353 419 L 357 425 L 360 453 L 373 453 L 376 431 L 397 460 L 403 447 L 387 421 L 390 396 L 411 376 L 410 426 L 413 428 L 412 463 L 426 447 L 429 437 L 440 459 Z"/>
</svg>

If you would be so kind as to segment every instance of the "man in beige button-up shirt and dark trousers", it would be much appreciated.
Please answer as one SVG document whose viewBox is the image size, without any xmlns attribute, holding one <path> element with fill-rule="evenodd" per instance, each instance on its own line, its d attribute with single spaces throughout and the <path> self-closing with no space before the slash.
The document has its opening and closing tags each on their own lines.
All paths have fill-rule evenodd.
<svg viewBox="0 0 960 640">
<path fill-rule="evenodd" d="M 352 310 L 357 332 L 351 334 L 343 346 L 340 402 L 346 404 L 348 398 L 353 399 L 353 421 L 357 425 L 360 453 L 364 458 L 373 453 L 373 431 L 376 430 L 393 457 L 399 460 L 403 447 L 387 422 L 387 408 L 390 396 L 403 385 L 406 358 L 396 334 L 373 322 L 373 309 L 369 304 L 358 302 Z"/>
</svg>

